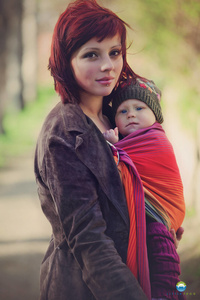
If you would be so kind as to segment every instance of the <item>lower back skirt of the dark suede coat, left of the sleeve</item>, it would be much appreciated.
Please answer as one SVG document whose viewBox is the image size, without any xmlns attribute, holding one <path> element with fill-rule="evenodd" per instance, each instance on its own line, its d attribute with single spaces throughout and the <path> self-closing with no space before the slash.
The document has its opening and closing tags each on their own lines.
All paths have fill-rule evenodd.
<svg viewBox="0 0 200 300">
<path fill-rule="evenodd" d="M 95 300 L 65 242 L 42 263 L 40 287 L 40 300 Z"/>
</svg>

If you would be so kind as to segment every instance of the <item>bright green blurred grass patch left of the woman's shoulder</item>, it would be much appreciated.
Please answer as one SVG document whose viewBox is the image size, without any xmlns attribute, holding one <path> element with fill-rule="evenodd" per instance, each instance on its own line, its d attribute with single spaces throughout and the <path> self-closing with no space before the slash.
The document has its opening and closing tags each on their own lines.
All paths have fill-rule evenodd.
<svg viewBox="0 0 200 300">
<path fill-rule="evenodd" d="M 4 118 L 6 134 L 0 135 L 0 167 L 10 157 L 33 149 L 44 117 L 54 99 L 52 88 L 39 88 L 36 101 L 29 103 L 21 112 L 7 112 Z"/>
</svg>

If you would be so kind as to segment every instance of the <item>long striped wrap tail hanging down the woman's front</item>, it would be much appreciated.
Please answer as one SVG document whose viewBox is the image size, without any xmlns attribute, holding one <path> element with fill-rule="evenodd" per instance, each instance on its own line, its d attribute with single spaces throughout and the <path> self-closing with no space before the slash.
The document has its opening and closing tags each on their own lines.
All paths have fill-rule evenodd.
<svg viewBox="0 0 200 300">
<path fill-rule="evenodd" d="M 130 219 L 127 266 L 151 299 L 149 264 L 146 244 L 144 191 L 140 176 L 130 157 L 121 149 L 112 148 L 125 190 Z M 119 155 L 119 162 L 117 153 Z"/>
</svg>

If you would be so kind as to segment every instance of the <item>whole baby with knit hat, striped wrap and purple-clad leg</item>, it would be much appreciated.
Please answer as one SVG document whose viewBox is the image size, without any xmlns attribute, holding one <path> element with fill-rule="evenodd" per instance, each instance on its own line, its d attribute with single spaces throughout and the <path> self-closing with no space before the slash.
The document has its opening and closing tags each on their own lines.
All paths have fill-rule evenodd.
<svg viewBox="0 0 200 300">
<path fill-rule="evenodd" d="M 117 127 L 104 137 L 129 155 L 143 184 L 152 297 L 178 299 L 180 261 L 170 231 L 181 226 L 185 202 L 174 151 L 161 126 L 160 98 L 153 81 L 137 79 L 118 88 L 112 102 Z"/>
</svg>

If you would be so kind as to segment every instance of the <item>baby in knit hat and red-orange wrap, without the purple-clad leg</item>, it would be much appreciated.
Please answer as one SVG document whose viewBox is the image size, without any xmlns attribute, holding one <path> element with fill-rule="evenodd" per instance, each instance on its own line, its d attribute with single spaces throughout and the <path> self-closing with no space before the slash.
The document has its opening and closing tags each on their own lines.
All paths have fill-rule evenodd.
<svg viewBox="0 0 200 300">
<path fill-rule="evenodd" d="M 120 87 L 112 103 L 117 127 L 104 137 L 130 156 L 161 222 L 164 219 L 169 230 L 177 231 L 185 214 L 183 186 L 172 145 L 161 126 L 160 98 L 161 91 L 153 81 L 137 79 Z"/>
</svg>

